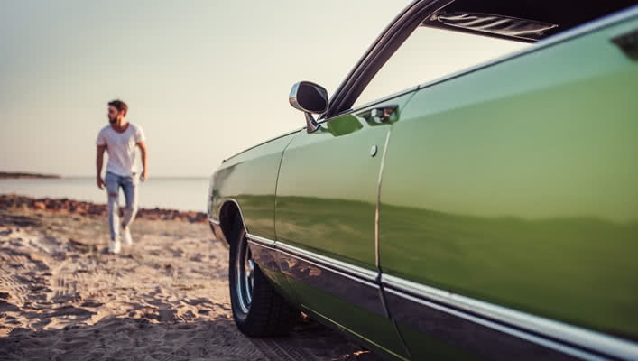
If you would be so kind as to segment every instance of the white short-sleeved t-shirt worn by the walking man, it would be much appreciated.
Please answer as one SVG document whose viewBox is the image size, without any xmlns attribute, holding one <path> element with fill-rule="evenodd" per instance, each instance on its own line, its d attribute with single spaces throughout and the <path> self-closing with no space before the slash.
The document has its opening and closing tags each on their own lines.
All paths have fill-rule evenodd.
<svg viewBox="0 0 638 361">
<path fill-rule="evenodd" d="M 117 133 L 111 125 L 106 125 L 97 134 L 97 145 L 106 145 L 108 164 L 106 171 L 129 177 L 139 171 L 135 159 L 135 144 L 145 140 L 142 127 L 128 123 L 124 133 Z"/>
</svg>

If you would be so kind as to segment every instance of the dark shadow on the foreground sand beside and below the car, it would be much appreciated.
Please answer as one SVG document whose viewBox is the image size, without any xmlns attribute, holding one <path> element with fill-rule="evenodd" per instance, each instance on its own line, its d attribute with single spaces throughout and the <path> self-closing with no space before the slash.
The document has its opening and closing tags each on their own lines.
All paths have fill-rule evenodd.
<svg viewBox="0 0 638 361">
<path fill-rule="evenodd" d="M 226 316 L 159 323 L 111 317 L 90 326 L 35 332 L 17 328 L 0 338 L 2 361 L 204 359 L 374 361 L 377 357 L 308 319 L 300 319 L 291 335 L 282 338 L 246 338 Z"/>
</svg>

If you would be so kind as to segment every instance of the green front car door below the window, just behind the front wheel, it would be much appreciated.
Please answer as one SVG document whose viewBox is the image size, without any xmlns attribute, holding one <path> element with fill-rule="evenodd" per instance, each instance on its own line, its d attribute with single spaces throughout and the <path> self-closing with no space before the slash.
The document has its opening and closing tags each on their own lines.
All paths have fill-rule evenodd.
<svg viewBox="0 0 638 361">
<path fill-rule="evenodd" d="M 275 207 L 280 268 L 304 309 L 399 355 L 377 283 L 375 212 L 386 140 L 411 95 L 297 136 L 282 158 Z"/>
</svg>

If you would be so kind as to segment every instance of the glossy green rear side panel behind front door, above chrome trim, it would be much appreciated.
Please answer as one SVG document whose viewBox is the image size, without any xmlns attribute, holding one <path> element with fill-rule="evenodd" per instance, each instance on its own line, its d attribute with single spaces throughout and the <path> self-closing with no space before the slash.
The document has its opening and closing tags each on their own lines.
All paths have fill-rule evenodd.
<svg viewBox="0 0 638 361">
<path fill-rule="evenodd" d="M 384 165 L 384 273 L 638 338 L 635 18 L 421 89 Z"/>
</svg>

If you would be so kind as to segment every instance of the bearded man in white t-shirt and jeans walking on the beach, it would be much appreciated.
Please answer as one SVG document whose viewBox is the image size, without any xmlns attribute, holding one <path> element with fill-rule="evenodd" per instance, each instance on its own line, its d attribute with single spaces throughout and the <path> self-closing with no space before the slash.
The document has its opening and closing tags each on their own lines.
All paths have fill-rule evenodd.
<svg viewBox="0 0 638 361">
<path fill-rule="evenodd" d="M 108 226 L 111 244 L 108 252 L 120 252 L 121 242 L 133 245 L 130 226 L 137 211 L 137 186 L 139 180 L 148 177 L 146 143 L 140 125 L 134 125 L 125 118 L 128 106 L 122 100 L 108 103 L 108 122 L 97 134 L 97 187 L 106 186 L 108 193 Z M 135 159 L 135 147 L 142 152 L 143 171 L 140 174 Z M 102 179 L 104 152 L 108 152 L 106 177 Z M 124 190 L 126 208 L 122 223 L 119 222 L 119 191 Z M 121 231 L 120 231 L 121 228 Z"/>
</svg>

